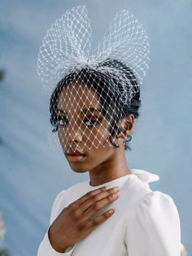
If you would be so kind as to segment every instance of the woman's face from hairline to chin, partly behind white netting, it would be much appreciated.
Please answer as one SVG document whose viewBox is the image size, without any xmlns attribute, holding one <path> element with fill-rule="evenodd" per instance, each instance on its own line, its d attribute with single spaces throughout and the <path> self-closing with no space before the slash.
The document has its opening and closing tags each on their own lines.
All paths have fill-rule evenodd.
<svg viewBox="0 0 192 256">
<path fill-rule="evenodd" d="M 108 121 L 101 114 L 97 93 L 85 84 L 71 82 L 61 91 L 57 116 L 61 119 L 59 142 L 72 170 L 92 170 L 118 149 L 110 146 Z M 70 161 L 68 149 L 81 151 L 85 157 L 82 161 Z"/>
</svg>

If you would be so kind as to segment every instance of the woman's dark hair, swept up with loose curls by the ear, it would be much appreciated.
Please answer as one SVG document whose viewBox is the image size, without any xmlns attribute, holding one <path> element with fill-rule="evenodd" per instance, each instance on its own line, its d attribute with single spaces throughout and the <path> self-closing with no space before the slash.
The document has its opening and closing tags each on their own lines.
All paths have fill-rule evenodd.
<svg viewBox="0 0 192 256">
<path fill-rule="evenodd" d="M 110 74 L 102 73 L 99 70 L 96 71 L 92 68 L 89 68 L 89 66 L 85 66 L 85 68 L 81 68 L 81 70 L 71 72 L 66 77 L 63 77 L 63 79 L 61 79 L 55 87 L 55 90 L 52 92 L 52 95 L 50 97 L 50 123 L 51 125 L 56 127 L 53 131 L 58 130 L 58 127 L 55 124 L 57 121 L 56 111 L 60 92 L 64 89 L 65 86 L 68 85 L 69 82 L 80 80 L 91 88 L 94 88 L 94 90 L 98 93 L 100 104 L 103 107 L 102 114 L 104 117 L 107 118 L 107 120 L 110 120 L 111 127 L 113 128 L 111 130 L 110 127 L 109 130 L 110 141 L 114 137 L 114 135 L 116 135 L 116 133 L 117 135 L 119 135 L 120 131 L 126 133 L 126 130 L 122 129 L 116 124 L 119 123 L 122 118 L 129 117 L 131 113 L 134 115 L 135 118 L 139 116 L 138 110 L 141 106 L 141 99 L 140 88 L 137 83 L 137 78 L 135 77 L 133 70 L 119 60 L 107 59 L 105 62 L 98 64 L 98 68 L 103 66 L 116 68 L 117 70 L 119 69 L 121 72 L 123 71 L 125 77 L 129 78 L 129 81 L 134 86 L 136 91 L 131 99 L 130 104 L 128 105 L 120 103 L 120 91 L 123 90 L 123 87 L 119 81 L 116 81 L 115 78 L 111 78 Z M 111 80 L 113 83 L 111 83 Z M 114 82 L 117 87 L 114 86 Z M 129 91 L 129 84 L 127 85 L 127 90 Z M 120 106 L 120 108 L 118 108 L 118 106 Z M 124 114 L 123 116 L 122 113 L 120 114 L 120 111 L 122 111 L 122 113 Z M 131 148 L 129 147 L 130 139 L 132 139 L 131 135 L 127 137 L 124 143 L 125 150 L 131 150 Z M 111 144 L 115 148 L 119 148 L 119 145 L 116 143 L 112 143 L 112 141 Z"/>
</svg>

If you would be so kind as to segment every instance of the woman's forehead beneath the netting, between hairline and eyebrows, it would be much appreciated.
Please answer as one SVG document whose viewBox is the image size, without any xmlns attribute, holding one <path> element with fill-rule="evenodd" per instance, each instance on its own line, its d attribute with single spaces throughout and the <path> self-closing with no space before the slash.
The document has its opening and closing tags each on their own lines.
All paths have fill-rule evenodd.
<svg viewBox="0 0 192 256">
<path fill-rule="evenodd" d="M 97 92 L 83 82 L 70 82 L 59 93 L 58 108 L 68 112 L 69 109 L 72 111 L 72 106 L 74 111 L 81 110 L 81 108 L 99 108 Z"/>
</svg>

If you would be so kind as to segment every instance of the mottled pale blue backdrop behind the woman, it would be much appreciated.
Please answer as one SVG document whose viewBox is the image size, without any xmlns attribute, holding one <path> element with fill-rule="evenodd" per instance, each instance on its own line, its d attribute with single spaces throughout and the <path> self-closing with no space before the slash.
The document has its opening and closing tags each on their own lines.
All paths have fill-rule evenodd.
<svg viewBox="0 0 192 256">
<path fill-rule="evenodd" d="M 146 29 L 150 69 L 142 84 L 142 108 L 133 131 L 130 168 L 160 179 L 153 190 L 172 196 L 181 218 L 181 239 L 192 255 L 191 124 L 192 1 L 0 2 L 0 212 L 7 233 L 0 246 L 13 256 L 33 256 L 46 232 L 55 196 L 89 179 L 76 174 L 51 147 L 49 95 L 37 77 L 41 40 L 68 8 L 88 7 L 97 45 L 117 11 L 128 9 Z M 1 247 L 0 247 L 1 248 Z"/>
</svg>

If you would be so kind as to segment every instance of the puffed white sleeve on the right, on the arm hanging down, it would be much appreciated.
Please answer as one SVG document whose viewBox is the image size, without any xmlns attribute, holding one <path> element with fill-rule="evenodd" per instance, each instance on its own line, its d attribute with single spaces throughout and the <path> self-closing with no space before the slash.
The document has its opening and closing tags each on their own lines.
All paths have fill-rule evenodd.
<svg viewBox="0 0 192 256">
<path fill-rule="evenodd" d="M 181 256 L 181 225 L 171 196 L 148 192 L 133 210 L 125 243 L 129 256 Z"/>
</svg>

